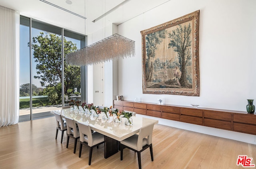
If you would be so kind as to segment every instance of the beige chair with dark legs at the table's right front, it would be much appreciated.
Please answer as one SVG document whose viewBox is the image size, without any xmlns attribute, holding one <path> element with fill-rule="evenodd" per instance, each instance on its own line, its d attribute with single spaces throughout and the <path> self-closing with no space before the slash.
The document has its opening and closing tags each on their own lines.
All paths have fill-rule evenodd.
<svg viewBox="0 0 256 169">
<path fill-rule="evenodd" d="M 139 134 L 135 134 L 125 140 L 120 141 L 120 159 L 123 160 L 123 150 L 124 148 L 131 149 L 135 151 L 138 156 L 138 165 L 141 169 L 141 155 L 140 153 L 150 148 L 151 161 L 154 161 L 153 158 L 153 148 L 152 148 L 152 133 L 153 133 L 154 124 L 144 126 L 140 128 Z"/>
</svg>

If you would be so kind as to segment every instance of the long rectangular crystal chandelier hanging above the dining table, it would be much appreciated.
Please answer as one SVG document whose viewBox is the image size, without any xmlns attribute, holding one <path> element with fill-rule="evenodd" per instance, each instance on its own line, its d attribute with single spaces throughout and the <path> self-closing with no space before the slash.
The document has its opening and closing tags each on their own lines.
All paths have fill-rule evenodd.
<svg viewBox="0 0 256 169">
<path fill-rule="evenodd" d="M 93 65 L 107 61 L 134 57 L 135 41 L 114 34 L 92 45 L 84 47 L 66 55 L 66 62 L 70 65 Z"/>
</svg>

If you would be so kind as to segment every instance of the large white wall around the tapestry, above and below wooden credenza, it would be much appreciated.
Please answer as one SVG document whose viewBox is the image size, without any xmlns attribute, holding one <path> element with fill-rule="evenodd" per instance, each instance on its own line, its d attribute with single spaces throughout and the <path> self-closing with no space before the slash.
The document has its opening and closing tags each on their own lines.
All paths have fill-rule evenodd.
<svg viewBox="0 0 256 169">
<path fill-rule="evenodd" d="M 171 0 L 118 26 L 136 41 L 135 57 L 118 61 L 118 94 L 124 100 L 246 111 L 256 99 L 256 1 Z M 140 31 L 200 10 L 200 96 L 142 94 Z M 256 103 L 255 103 L 256 104 Z M 160 124 L 256 144 L 256 136 L 158 119 Z"/>
</svg>

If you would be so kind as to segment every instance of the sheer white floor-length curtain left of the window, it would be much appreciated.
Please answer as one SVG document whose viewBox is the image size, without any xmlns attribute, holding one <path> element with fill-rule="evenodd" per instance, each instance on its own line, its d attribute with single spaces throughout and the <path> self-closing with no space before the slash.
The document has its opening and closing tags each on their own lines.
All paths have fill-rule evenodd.
<svg viewBox="0 0 256 169">
<path fill-rule="evenodd" d="M 0 127 L 19 120 L 20 15 L 0 6 Z"/>
</svg>

